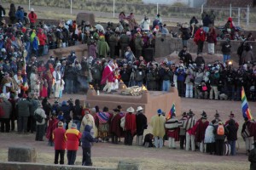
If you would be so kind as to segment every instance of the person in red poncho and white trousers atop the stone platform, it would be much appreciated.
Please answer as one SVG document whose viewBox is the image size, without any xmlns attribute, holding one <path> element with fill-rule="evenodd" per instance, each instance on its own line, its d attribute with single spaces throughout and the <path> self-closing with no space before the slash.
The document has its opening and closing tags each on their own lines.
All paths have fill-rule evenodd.
<svg viewBox="0 0 256 170">
<path fill-rule="evenodd" d="M 106 84 L 103 88 L 103 92 L 107 92 L 108 94 L 111 93 L 111 90 L 113 88 L 113 61 L 109 61 L 108 65 L 104 68 L 102 73 L 102 84 Z"/>
</svg>

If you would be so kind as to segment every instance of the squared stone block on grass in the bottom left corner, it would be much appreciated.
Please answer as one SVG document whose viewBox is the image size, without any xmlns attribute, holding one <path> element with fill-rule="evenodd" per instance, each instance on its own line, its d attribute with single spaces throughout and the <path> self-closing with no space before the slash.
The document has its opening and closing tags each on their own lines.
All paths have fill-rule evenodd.
<svg viewBox="0 0 256 170">
<path fill-rule="evenodd" d="M 35 148 L 25 146 L 9 147 L 8 161 L 36 162 L 37 152 Z"/>
</svg>

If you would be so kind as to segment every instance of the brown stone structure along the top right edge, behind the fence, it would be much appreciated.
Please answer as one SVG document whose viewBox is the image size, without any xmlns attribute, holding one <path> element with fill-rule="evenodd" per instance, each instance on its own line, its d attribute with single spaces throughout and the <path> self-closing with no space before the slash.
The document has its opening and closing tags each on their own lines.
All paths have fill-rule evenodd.
<svg viewBox="0 0 256 170">
<path fill-rule="evenodd" d="M 206 6 L 207 8 L 226 8 L 230 7 L 230 3 L 232 7 L 246 8 L 247 5 L 253 7 L 253 0 L 207 0 Z"/>
</svg>

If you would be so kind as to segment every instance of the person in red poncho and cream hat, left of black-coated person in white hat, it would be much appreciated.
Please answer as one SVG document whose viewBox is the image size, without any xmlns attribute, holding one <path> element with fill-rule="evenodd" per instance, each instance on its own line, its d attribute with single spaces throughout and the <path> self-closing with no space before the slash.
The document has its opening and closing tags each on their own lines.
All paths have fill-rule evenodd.
<svg viewBox="0 0 256 170">
<path fill-rule="evenodd" d="M 129 107 L 126 111 L 128 113 L 125 115 L 125 145 L 132 145 L 133 137 L 137 131 L 136 115 L 132 107 Z"/>
</svg>

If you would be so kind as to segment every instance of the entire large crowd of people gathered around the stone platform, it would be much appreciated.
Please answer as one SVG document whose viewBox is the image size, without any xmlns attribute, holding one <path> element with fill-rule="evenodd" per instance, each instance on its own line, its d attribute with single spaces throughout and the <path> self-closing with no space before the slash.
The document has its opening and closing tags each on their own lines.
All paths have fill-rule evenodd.
<svg viewBox="0 0 256 170">
<path fill-rule="evenodd" d="M 218 41 L 213 11 L 210 16 L 204 15 L 203 26 L 198 25 L 195 17 L 190 20 L 190 28 L 189 25 L 181 26 L 183 49 L 178 54 L 178 64 L 168 59 L 159 63 L 148 57 L 148 52 L 154 53 L 155 37 L 162 34 L 177 37 L 168 31 L 160 14 L 152 23 L 148 16 L 137 23 L 134 14 L 125 16 L 122 12 L 117 26 L 109 22 L 104 28 L 100 24 L 91 26 L 84 20 L 81 23 L 61 20 L 58 26 L 47 26 L 44 22 L 38 23 L 33 8 L 27 15 L 20 6 L 16 10 L 14 3 L 10 4 L 9 23 L 3 17 L 6 13 L 2 6 L 0 12 L 3 14 L 0 16 L 1 132 L 14 131 L 15 120 L 18 120 L 18 133 L 36 132 L 38 141 L 44 140 L 46 133 L 49 145 L 55 145 L 55 163 L 59 162 L 59 156 L 60 163 L 64 163 L 67 148 L 69 165 L 74 164 L 80 141 L 83 165 L 91 165 L 91 142 L 105 142 L 111 138 L 113 144 L 119 144 L 120 138 L 125 137 L 125 144 L 131 145 L 136 135 L 137 145 L 161 148 L 166 137 L 170 148 L 176 148 L 179 140 L 180 149 L 196 150 L 198 147 L 201 152 L 219 156 L 224 153 L 227 137 L 231 155 L 236 155 L 238 123 L 232 113 L 227 122 L 221 122 L 218 113 L 215 120 L 208 122 L 206 112 L 198 121 L 192 111 L 183 113 L 180 120 L 175 114 L 166 120 L 159 110 L 150 122 L 152 134 L 146 135 L 143 141 L 148 123 L 141 106 L 137 111 L 132 107 L 122 111 L 122 106 L 118 105 L 108 111 L 108 107 L 101 110 L 98 106 L 82 106 L 79 99 L 74 104 L 72 99 L 58 101 L 62 94 L 86 93 L 90 85 L 97 94 L 100 91 L 111 94 L 119 89 L 119 82 L 124 82 L 126 87 L 145 85 L 148 90 L 169 91 L 176 87 L 179 96 L 196 99 L 241 100 L 241 88 L 244 87 L 248 99 L 255 100 L 256 66 L 249 42 L 253 40 L 252 35 L 245 38 L 238 50 L 239 68 L 230 61 L 230 39 L 236 37 L 236 30 L 232 38 L 225 39 L 222 44 L 223 62 L 207 64 L 204 60 L 204 42 L 208 42 L 208 53 L 214 54 L 214 44 Z M 234 26 L 230 19 L 226 29 L 230 29 L 228 26 L 231 29 Z M 194 38 L 198 46 L 195 61 L 188 53 L 190 38 Z M 50 56 L 46 62 L 40 60 L 49 49 L 82 43 L 88 46 L 88 56 L 77 56 L 71 51 L 67 57 Z M 50 98 L 55 98 L 55 104 L 49 104 Z M 73 124 L 68 128 L 70 122 Z M 241 133 L 247 143 L 247 153 L 253 149 L 256 137 L 253 129 L 255 122 L 245 120 Z"/>
</svg>

